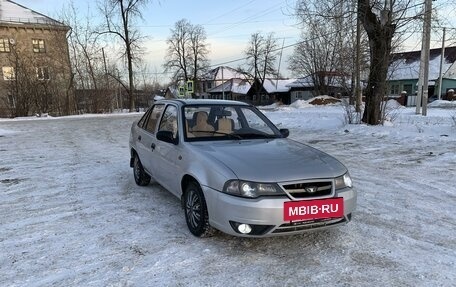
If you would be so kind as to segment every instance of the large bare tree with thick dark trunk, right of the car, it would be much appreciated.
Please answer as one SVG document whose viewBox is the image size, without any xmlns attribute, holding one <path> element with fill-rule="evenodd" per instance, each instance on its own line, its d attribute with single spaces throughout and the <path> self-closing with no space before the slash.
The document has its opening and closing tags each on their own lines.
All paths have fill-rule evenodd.
<svg viewBox="0 0 456 287">
<path fill-rule="evenodd" d="M 306 2 L 312 3 L 313 6 L 310 4 L 306 5 Z M 346 16 L 348 15 L 347 13 L 354 12 L 354 9 L 347 10 L 344 8 L 344 2 L 342 0 L 300 1 L 299 3 L 302 5 L 298 5 L 297 7 L 311 7 L 311 9 L 305 10 L 309 12 L 306 15 L 326 19 L 327 22 L 320 23 L 320 27 L 325 27 L 325 24 L 335 23 L 336 25 L 334 27 L 336 29 L 332 30 L 333 34 L 327 34 L 327 36 L 332 35 L 332 38 L 338 42 L 338 39 L 344 38 L 344 35 L 341 33 L 348 34 L 347 31 L 354 31 L 352 27 L 355 25 L 353 23 L 351 24 L 352 27 L 350 27 L 349 23 L 343 21 L 343 19 L 348 17 Z M 404 30 L 413 27 L 413 21 L 422 13 L 419 9 L 422 4 L 423 2 L 418 0 L 357 0 L 356 13 L 367 35 L 368 58 L 370 61 L 368 84 L 364 92 L 366 102 L 362 121 L 365 123 L 372 125 L 381 124 L 381 102 L 387 91 L 386 79 L 390 55 L 395 45 L 400 44 L 403 40 Z M 321 8 L 325 5 L 325 9 L 313 9 L 315 7 Z M 350 12 L 350 10 L 353 12 Z M 299 12 L 300 10 L 297 11 Z M 338 14 L 340 15 L 337 16 Z M 309 19 L 309 21 L 314 20 L 314 17 Z M 342 23 L 347 23 L 347 26 Z M 340 26 L 341 24 L 342 26 Z M 314 32 L 316 31 L 314 30 Z M 326 33 L 331 33 L 331 31 L 327 31 Z M 352 37 L 349 38 L 353 39 L 353 36 L 352 34 Z M 354 42 L 353 40 L 351 41 Z M 338 46 L 334 47 L 334 54 L 349 57 L 350 54 L 347 55 L 343 52 L 345 44 L 341 44 L 337 44 Z M 352 52 L 351 55 L 354 55 L 354 53 Z M 335 62 L 335 69 L 343 70 L 344 65 L 342 64 L 342 60 L 340 59 Z M 307 61 L 311 61 L 311 59 L 307 59 Z"/>
</svg>

